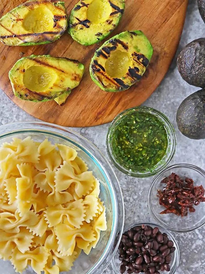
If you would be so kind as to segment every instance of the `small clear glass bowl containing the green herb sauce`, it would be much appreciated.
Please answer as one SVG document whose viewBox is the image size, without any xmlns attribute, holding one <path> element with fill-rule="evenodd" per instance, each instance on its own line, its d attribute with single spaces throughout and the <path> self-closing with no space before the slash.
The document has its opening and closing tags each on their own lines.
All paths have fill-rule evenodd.
<svg viewBox="0 0 205 274">
<path fill-rule="evenodd" d="M 125 118 L 125 116 L 134 114 L 137 111 L 143 112 L 143 113 L 150 113 L 154 115 L 155 117 L 157 117 L 160 121 L 162 121 L 164 124 L 164 128 L 167 132 L 167 141 L 168 141 L 167 151 L 164 157 L 162 157 L 162 159 L 154 166 L 153 169 L 142 171 L 142 172 L 128 170 L 127 168 L 119 164 L 112 149 L 112 138 L 113 138 L 113 133 L 115 131 L 115 128 L 118 126 L 119 122 Z M 114 166 L 118 168 L 120 171 L 122 171 L 123 173 L 129 176 L 138 177 L 138 178 L 150 177 L 159 173 L 173 159 L 175 154 L 175 149 L 176 149 L 176 134 L 171 122 L 160 111 L 154 108 L 146 107 L 146 106 L 129 108 L 127 110 L 122 111 L 120 114 L 118 114 L 112 121 L 110 127 L 108 128 L 108 134 L 106 139 L 106 149 L 108 152 L 108 156 L 110 157 Z"/>
</svg>

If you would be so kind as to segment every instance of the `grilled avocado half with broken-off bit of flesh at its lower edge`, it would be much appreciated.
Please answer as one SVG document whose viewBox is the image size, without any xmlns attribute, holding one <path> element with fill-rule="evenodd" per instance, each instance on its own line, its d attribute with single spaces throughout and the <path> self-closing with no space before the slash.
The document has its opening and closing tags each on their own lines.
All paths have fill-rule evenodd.
<svg viewBox="0 0 205 274">
<path fill-rule="evenodd" d="M 48 101 L 62 94 L 69 95 L 79 85 L 84 70 L 84 65 L 76 60 L 31 55 L 16 62 L 9 71 L 9 79 L 14 95 L 20 99 Z M 60 100 L 62 97 L 57 99 Z"/>
</svg>

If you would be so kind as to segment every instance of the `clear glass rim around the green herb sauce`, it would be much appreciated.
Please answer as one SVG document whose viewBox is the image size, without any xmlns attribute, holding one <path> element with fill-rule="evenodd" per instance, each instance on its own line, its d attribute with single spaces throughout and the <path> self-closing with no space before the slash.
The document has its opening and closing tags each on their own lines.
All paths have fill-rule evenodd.
<svg viewBox="0 0 205 274">
<path fill-rule="evenodd" d="M 118 164 L 118 162 L 114 159 L 113 155 L 112 155 L 112 151 L 111 151 L 111 145 L 109 145 L 109 139 L 111 136 L 111 129 L 114 127 L 115 123 L 118 121 L 119 118 L 121 118 L 121 115 L 125 115 L 126 113 L 129 113 L 132 110 L 146 110 L 146 111 L 151 111 L 153 112 L 153 115 L 158 115 L 160 118 L 163 118 L 165 120 L 165 122 L 167 124 L 165 124 L 165 122 L 162 120 L 164 127 L 167 129 L 169 129 L 169 134 L 172 138 L 172 141 L 169 141 L 168 138 L 168 144 L 170 142 L 173 142 L 173 147 L 172 150 L 170 152 L 169 158 L 167 159 L 167 161 L 160 165 L 158 168 L 153 169 L 152 172 L 150 173 L 139 173 L 139 172 L 133 172 L 133 171 L 128 171 L 127 169 L 123 168 L 123 166 L 120 166 Z M 168 134 L 167 134 L 168 135 Z M 164 168 L 166 168 L 166 166 L 171 162 L 171 160 L 173 159 L 175 152 L 176 152 L 176 144 L 177 144 L 177 139 L 176 139 L 176 132 L 175 129 L 172 125 L 172 123 L 170 122 L 170 120 L 167 118 L 167 116 L 165 116 L 162 112 L 160 112 L 159 110 L 155 109 L 155 108 L 151 108 L 151 107 L 147 107 L 147 106 L 138 106 L 138 107 L 133 107 L 133 108 L 128 108 L 126 110 L 123 110 L 122 112 L 120 112 L 117 116 L 115 116 L 115 118 L 113 119 L 113 121 L 111 122 L 110 126 L 108 127 L 108 133 L 106 136 L 106 150 L 108 153 L 108 156 L 111 160 L 111 162 L 113 163 L 113 165 L 118 168 L 118 170 L 120 170 L 122 173 L 131 176 L 131 177 L 135 177 L 135 178 L 147 178 L 147 177 L 151 177 L 154 176 L 156 174 L 158 174 L 160 171 L 162 171 Z"/>
</svg>

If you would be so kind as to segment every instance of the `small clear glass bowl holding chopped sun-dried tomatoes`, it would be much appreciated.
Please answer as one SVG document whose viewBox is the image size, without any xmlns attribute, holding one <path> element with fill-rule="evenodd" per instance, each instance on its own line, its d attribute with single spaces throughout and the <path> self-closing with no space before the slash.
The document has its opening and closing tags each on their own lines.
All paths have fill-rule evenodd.
<svg viewBox="0 0 205 274">
<path fill-rule="evenodd" d="M 164 171 L 158 174 L 148 192 L 148 206 L 150 213 L 154 220 L 163 227 L 175 231 L 175 232 L 189 232 L 205 224 L 205 202 L 201 202 L 199 205 L 194 206 L 195 212 L 190 213 L 185 217 L 177 216 L 173 213 L 160 214 L 162 210 L 165 210 L 164 206 L 159 204 L 159 198 L 157 197 L 157 190 L 163 189 L 165 184 L 161 181 L 171 173 L 176 173 L 181 178 L 192 178 L 195 186 L 202 185 L 205 188 L 205 171 L 197 166 L 190 164 L 177 164 L 167 167 Z"/>
</svg>

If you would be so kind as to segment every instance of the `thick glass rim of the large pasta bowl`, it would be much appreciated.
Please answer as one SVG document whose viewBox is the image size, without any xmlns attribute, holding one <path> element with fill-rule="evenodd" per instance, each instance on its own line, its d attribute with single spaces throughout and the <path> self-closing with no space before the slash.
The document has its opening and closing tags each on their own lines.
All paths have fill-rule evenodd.
<svg viewBox="0 0 205 274">
<path fill-rule="evenodd" d="M 13 127 L 15 127 L 15 126 L 19 126 L 19 128 L 21 128 L 21 129 L 19 129 L 19 130 L 13 129 Z M 33 128 L 31 128 L 31 127 L 33 127 Z M 43 128 L 35 129 L 35 127 L 44 127 L 44 129 Z M 1 131 L 3 131 L 3 133 Z M 57 133 L 57 131 L 59 131 L 59 133 Z M 102 154 L 102 152 L 93 143 L 91 143 L 87 138 L 78 134 L 77 132 L 73 131 L 72 129 L 68 129 L 66 127 L 59 126 L 57 124 L 41 122 L 41 121 L 21 121 L 21 122 L 12 122 L 12 123 L 8 123 L 8 124 L 0 125 L 0 139 L 4 138 L 4 137 L 15 135 L 15 134 L 21 134 L 21 133 L 39 133 L 39 134 L 46 133 L 46 134 L 50 134 L 52 136 L 67 140 L 68 142 L 74 143 L 77 147 L 79 147 L 81 150 L 83 150 L 83 152 L 85 152 L 92 159 L 92 161 L 97 165 L 97 167 L 101 170 L 103 176 L 106 178 L 106 183 L 109 182 L 111 184 L 113 191 L 114 191 L 114 186 L 118 188 L 118 193 L 116 193 L 115 191 L 114 192 L 115 192 L 116 197 L 120 196 L 120 199 L 122 200 L 122 204 L 119 205 L 122 210 L 122 216 L 120 216 L 120 218 L 118 218 L 118 219 L 116 218 L 116 220 L 115 220 L 115 230 L 117 229 L 119 219 L 121 219 L 121 223 L 122 223 L 122 228 L 121 228 L 120 234 L 119 234 L 119 236 L 120 236 L 119 240 L 118 240 L 117 244 L 115 245 L 114 250 L 111 251 L 111 248 L 115 244 L 115 239 L 116 239 L 116 235 L 114 235 L 116 233 L 116 231 L 115 231 L 115 233 L 112 232 L 113 226 L 114 226 L 114 224 L 112 224 L 111 235 L 108 239 L 108 243 L 106 244 L 104 252 L 101 254 L 101 257 L 99 257 L 97 262 L 92 266 L 92 268 L 90 268 L 86 272 L 86 274 L 94 274 L 96 271 L 96 268 L 99 267 L 104 262 L 105 266 L 103 267 L 103 269 L 100 272 L 100 273 L 102 273 L 106 269 L 108 264 L 111 262 L 115 253 L 117 252 L 118 245 L 120 243 L 120 239 L 121 239 L 121 236 L 123 233 L 124 222 L 125 222 L 125 205 L 124 205 L 122 190 L 121 190 L 118 178 L 115 174 L 115 171 L 113 170 L 113 167 L 108 162 L 108 160 L 105 158 L 105 156 Z M 71 134 L 73 139 L 70 136 L 66 135 L 66 133 Z M 81 141 L 85 142 L 85 144 L 82 143 L 79 145 L 79 140 L 75 140 L 74 138 L 78 138 L 80 140 L 80 142 Z M 89 146 L 89 148 L 87 148 L 87 146 Z M 90 149 L 94 150 L 94 155 L 92 155 L 92 153 L 90 152 Z M 104 161 L 104 163 L 101 164 L 101 161 Z M 104 168 L 105 165 L 106 165 L 106 169 Z M 111 173 L 111 175 L 114 177 L 115 182 L 113 182 L 113 180 L 109 180 L 110 176 L 108 175 L 107 169 Z M 116 210 L 116 212 L 118 213 L 118 208 L 117 209 L 114 208 L 114 210 Z M 116 212 L 114 212 L 115 215 L 116 215 Z M 112 253 L 112 255 L 109 258 L 109 260 L 106 260 L 109 253 Z"/>
</svg>

